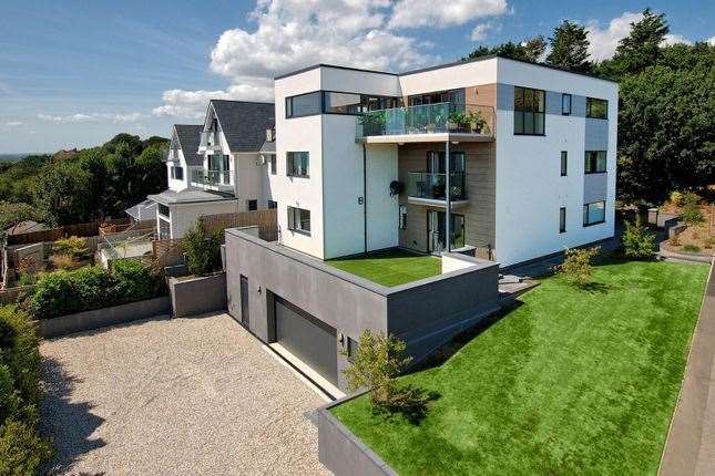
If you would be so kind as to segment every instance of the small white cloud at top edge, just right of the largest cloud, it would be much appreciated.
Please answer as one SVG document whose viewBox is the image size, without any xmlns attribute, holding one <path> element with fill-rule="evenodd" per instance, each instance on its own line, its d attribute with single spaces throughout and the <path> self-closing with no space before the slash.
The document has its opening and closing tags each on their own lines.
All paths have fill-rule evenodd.
<svg viewBox="0 0 715 476">
<path fill-rule="evenodd" d="M 486 17 L 510 12 L 505 0 L 398 0 L 389 28 L 437 27 L 464 24 Z"/>
</svg>

